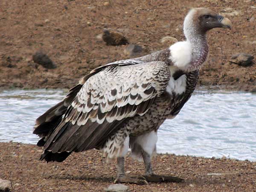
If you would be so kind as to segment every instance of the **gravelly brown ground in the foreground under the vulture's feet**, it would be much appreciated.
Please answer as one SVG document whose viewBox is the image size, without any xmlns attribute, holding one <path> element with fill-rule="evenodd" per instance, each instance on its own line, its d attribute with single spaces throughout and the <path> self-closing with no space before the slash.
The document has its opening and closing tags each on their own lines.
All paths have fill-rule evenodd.
<svg viewBox="0 0 256 192">
<path fill-rule="evenodd" d="M 97 192 L 113 184 L 116 161 L 105 163 L 97 150 L 73 153 L 62 163 L 38 158 L 36 145 L 0 143 L 0 178 L 12 181 L 12 192 Z M 155 173 L 183 178 L 182 183 L 125 184 L 137 192 L 256 192 L 256 162 L 158 154 Z M 129 175 L 143 174 L 143 163 L 126 157 Z"/>
</svg>

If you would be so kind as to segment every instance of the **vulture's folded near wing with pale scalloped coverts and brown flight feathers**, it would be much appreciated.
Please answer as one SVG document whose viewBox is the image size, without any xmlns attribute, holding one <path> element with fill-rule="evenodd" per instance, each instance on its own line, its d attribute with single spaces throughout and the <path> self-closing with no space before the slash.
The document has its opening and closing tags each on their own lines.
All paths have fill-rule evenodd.
<svg viewBox="0 0 256 192">
<path fill-rule="evenodd" d="M 167 64 L 160 61 L 107 66 L 93 73 L 47 138 L 45 150 L 79 152 L 99 147 L 126 119 L 145 114 L 170 78 Z"/>
</svg>

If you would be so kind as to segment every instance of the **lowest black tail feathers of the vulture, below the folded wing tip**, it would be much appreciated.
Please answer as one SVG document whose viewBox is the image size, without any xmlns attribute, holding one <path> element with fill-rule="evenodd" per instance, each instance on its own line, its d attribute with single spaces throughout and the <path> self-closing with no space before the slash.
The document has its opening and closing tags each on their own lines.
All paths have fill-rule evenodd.
<svg viewBox="0 0 256 192">
<path fill-rule="evenodd" d="M 51 151 L 44 151 L 44 154 L 41 155 L 40 160 L 46 160 L 48 163 L 49 161 L 57 161 L 62 162 L 64 161 L 71 152 L 63 151 L 61 153 L 52 153 Z"/>
</svg>

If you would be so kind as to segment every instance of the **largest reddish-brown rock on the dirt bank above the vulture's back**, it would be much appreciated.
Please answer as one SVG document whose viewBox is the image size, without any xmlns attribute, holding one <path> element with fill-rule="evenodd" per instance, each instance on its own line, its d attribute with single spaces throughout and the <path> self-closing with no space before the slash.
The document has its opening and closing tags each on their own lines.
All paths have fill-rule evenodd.
<svg viewBox="0 0 256 192">
<path fill-rule="evenodd" d="M 129 44 L 128 40 L 122 35 L 122 33 L 114 31 L 113 29 L 104 29 L 102 39 L 107 45 Z"/>
</svg>

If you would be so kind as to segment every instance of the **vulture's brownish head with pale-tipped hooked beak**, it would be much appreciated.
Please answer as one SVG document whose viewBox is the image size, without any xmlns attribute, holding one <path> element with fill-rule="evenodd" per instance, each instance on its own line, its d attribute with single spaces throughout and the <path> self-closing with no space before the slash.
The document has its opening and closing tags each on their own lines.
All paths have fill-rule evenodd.
<svg viewBox="0 0 256 192">
<path fill-rule="evenodd" d="M 184 20 L 184 34 L 205 34 L 208 30 L 221 27 L 231 29 L 231 21 L 207 8 L 191 9 Z"/>
</svg>

